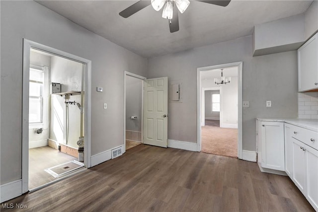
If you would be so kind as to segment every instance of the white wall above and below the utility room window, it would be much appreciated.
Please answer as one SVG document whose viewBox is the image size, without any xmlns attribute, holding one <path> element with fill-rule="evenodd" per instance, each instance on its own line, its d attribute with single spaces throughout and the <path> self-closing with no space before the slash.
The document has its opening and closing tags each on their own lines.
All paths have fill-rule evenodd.
<svg viewBox="0 0 318 212">
<path fill-rule="evenodd" d="M 30 52 L 30 65 L 40 66 L 40 67 L 50 67 L 51 57 L 39 54 L 37 52 Z M 50 121 L 50 118 L 48 119 Z M 37 134 L 34 129 L 29 129 L 29 142 L 47 140 L 50 137 L 50 127 L 48 129 L 43 129 L 41 134 Z"/>
</svg>

